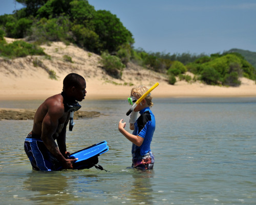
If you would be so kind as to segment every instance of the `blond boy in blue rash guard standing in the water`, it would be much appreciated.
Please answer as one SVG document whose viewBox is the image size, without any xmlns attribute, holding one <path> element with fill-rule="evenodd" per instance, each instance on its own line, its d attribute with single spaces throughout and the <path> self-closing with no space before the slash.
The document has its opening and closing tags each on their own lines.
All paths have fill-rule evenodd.
<svg viewBox="0 0 256 205">
<path fill-rule="evenodd" d="M 138 100 L 146 91 L 148 87 L 140 85 L 134 87 L 131 90 L 131 99 L 135 102 Z M 130 116 L 130 129 L 133 133 L 127 132 L 124 127 L 126 122 L 119 121 L 118 130 L 132 145 L 132 167 L 137 169 L 153 169 L 154 166 L 154 155 L 151 151 L 151 141 L 156 127 L 155 116 L 151 111 L 153 106 L 152 96 L 148 94 L 141 102 L 136 106 Z M 137 114 L 140 116 L 137 119 Z"/>
</svg>

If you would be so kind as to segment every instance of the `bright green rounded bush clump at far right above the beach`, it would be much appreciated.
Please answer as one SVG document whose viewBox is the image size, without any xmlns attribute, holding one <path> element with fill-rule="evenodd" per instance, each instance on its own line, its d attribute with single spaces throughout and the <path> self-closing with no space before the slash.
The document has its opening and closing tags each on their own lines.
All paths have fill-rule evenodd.
<svg viewBox="0 0 256 205">
<path fill-rule="evenodd" d="M 241 76 L 256 80 L 256 70 L 238 53 L 212 54 L 210 57 L 199 58 L 186 67 L 209 85 L 239 86 Z"/>
</svg>

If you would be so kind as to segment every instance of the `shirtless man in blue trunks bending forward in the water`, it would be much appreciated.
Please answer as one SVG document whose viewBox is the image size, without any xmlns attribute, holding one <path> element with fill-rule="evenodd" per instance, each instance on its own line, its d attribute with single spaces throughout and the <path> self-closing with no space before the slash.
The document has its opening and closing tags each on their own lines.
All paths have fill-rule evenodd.
<svg viewBox="0 0 256 205">
<path fill-rule="evenodd" d="M 24 144 L 33 170 L 73 168 L 72 163 L 77 159 L 68 159 L 70 153 L 66 149 L 66 128 L 70 112 L 81 107 L 77 101 L 82 101 L 86 93 L 84 78 L 70 73 L 63 80 L 63 92 L 49 97 L 39 106 L 33 129 Z"/>
</svg>

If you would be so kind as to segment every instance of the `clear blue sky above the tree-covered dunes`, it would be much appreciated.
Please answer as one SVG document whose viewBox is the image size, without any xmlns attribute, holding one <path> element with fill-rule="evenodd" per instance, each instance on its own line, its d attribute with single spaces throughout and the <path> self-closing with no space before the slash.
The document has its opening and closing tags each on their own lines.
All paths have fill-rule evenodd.
<svg viewBox="0 0 256 205">
<path fill-rule="evenodd" d="M 15 1 L 1 1 L 0 15 Z M 212 54 L 231 48 L 256 52 L 255 0 L 89 0 L 120 18 L 147 52 Z M 21 6 L 16 4 L 16 9 Z"/>
</svg>

